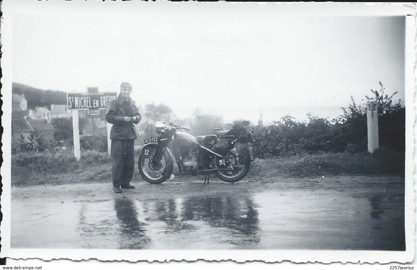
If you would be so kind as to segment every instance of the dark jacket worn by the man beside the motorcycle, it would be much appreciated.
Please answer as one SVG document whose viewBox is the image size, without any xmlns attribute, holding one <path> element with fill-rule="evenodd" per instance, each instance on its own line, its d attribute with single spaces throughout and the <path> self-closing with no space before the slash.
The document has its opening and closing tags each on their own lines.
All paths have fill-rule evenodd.
<svg viewBox="0 0 417 270">
<path fill-rule="evenodd" d="M 124 117 L 138 116 L 132 122 L 124 121 Z M 110 124 L 113 124 L 110 131 L 110 139 L 112 140 L 135 140 L 137 138 L 136 129 L 133 124 L 138 124 L 141 121 L 142 116 L 139 114 L 139 110 L 130 97 L 123 98 L 119 94 L 118 98 L 110 101 L 107 112 L 106 120 Z"/>
</svg>

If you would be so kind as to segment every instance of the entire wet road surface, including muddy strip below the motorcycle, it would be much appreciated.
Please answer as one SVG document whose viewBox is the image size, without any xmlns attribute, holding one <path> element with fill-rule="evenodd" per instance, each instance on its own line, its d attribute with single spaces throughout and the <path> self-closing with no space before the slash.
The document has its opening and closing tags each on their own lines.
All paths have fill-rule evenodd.
<svg viewBox="0 0 417 270">
<path fill-rule="evenodd" d="M 13 187 L 11 247 L 404 250 L 404 180 Z"/>
</svg>

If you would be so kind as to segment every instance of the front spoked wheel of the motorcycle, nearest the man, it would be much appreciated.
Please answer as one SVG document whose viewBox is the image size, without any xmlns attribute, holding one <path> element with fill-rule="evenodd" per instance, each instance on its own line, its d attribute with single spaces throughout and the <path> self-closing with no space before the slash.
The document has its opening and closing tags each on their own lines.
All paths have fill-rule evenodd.
<svg viewBox="0 0 417 270">
<path fill-rule="evenodd" d="M 139 156 L 138 168 L 142 178 L 151 184 L 161 184 L 171 177 L 173 167 L 173 161 L 171 155 L 167 151 L 163 152 L 161 162 L 155 166 L 151 165 L 151 160 L 156 151 L 156 145 L 147 146 L 150 150 L 148 156 L 144 156 L 143 153 Z"/>
</svg>

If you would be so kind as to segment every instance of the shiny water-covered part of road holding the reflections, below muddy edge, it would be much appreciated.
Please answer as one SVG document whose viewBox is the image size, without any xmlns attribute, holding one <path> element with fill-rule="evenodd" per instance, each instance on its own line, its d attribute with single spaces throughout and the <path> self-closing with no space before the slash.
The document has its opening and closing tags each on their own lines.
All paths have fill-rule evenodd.
<svg viewBox="0 0 417 270">
<path fill-rule="evenodd" d="M 286 190 L 18 201 L 12 247 L 405 250 L 404 196 Z M 33 233 L 37 232 L 37 233 Z"/>
</svg>

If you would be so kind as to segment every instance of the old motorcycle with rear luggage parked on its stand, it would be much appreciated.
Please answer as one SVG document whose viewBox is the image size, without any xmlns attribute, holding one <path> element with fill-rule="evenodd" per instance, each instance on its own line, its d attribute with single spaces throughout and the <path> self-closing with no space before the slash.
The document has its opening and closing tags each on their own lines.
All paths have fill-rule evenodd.
<svg viewBox="0 0 417 270">
<path fill-rule="evenodd" d="M 161 184 L 171 177 L 175 159 L 181 174 L 204 174 L 208 182 L 214 173 L 225 182 L 238 182 L 254 161 L 249 125 L 249 121 L 235 121 L 230 130 L 214 129 L 212 135 L 194 137 L 181 125 L 158 121 L 158 136 L 144 140 L 139 172 L 146 182 Z"/>
</svg>

